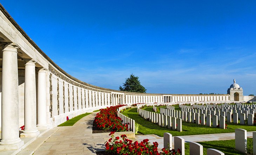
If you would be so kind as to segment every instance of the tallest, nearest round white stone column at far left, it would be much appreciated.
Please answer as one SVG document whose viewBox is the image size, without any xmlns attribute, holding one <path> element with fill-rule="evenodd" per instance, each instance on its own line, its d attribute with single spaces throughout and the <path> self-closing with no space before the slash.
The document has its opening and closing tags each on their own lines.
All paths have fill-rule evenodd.
<svg viewBox="0 0 256 155">
<path fill-rule="evenodd" d="M 0 150 L 18 149 L 19 138 L 18 60 L 16 45 L 6 45 L 2 60 L 2 138 Z"/>
</svg>

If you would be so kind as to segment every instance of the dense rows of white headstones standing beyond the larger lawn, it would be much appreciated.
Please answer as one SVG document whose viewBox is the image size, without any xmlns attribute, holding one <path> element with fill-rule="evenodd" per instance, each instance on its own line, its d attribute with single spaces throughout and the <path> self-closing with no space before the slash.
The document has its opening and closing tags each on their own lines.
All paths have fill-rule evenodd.
<svg viewBox="0 0 256 155">
<path fill-rule="evenodd" d="M 247 119 L 247 125 L 253 125 L 254 113 L 256 111 L 255 104 L 179 106 L 181 111 L 174 110 L 174 106 L 167 105 L 167 108 L 160 108 L 160 114 L 139 109 L 139 115 L 159 126 L 182 131 L 182 120 L 209 127 L 212 123 L 213 127 L 219 125 L 220 128 L 225 129 L 225 119 L 227 118 L 227 123 L 232 123 L 232 114 L 234 124 L 238 124 L 238 119 L 240 119 L 240 124 L 244 125 Z M 153 111 L 157 111 L 155 106 L 153 106 Z M 176 123 L 177 127 L 174 125 Z"/>
</svg>

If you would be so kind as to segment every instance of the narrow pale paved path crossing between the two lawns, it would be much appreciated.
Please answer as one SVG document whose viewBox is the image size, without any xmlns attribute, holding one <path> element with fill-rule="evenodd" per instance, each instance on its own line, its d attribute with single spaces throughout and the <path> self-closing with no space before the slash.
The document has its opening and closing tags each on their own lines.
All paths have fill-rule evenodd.
<svg viewBox="0 0 256 155">
<path fill-rule="evenodd" d="M 180 136 L 180 137 L 184 138 L 185 142 L 231 140 L 231 139 L 235 139 L 235 133 L 186 135 L 186 136 Z M 150 143 L 157 141 L 157 143 L 159 143 L 159 148 L 163 148 L 163 137 L 150 134 L 150 135 L 135 135 L 135 138 L 139 141 L 142 141 L 143 139 L 149 139 Z M 247 132 L 247 138 L 252 138 L 252 131 Z M 174 145 L 174 138 L 173 138 L 173 145 Z"/>
</svg>

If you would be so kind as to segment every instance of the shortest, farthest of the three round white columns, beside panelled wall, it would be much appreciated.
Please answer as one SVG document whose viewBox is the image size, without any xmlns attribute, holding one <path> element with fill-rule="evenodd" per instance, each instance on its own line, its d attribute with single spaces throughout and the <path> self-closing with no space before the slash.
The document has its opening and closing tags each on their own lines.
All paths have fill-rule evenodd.
<svg viewBox="0 0 256 155">
<path fill-rule="evenodd" d="M 38 96 L 37 96 L 37 127 L 38 129 L 47 129 L 46 122 L 47 108 L 46 108 L 46 69 L 42 68 L 38 72 Z"/>
</svg>

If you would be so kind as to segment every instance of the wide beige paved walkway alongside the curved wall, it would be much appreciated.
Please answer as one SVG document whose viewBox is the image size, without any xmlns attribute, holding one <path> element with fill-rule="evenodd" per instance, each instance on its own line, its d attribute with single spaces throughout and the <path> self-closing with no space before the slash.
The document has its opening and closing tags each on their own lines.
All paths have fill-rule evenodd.
<svg viewBox="0 0 256 155">
<path fill-rule="evenodd" d="M 73 126 L 55 127 L 58 129 L 48 139 L 31 150 L 25 148 L 18 155 L 58 155 L 58 154 L 86 154 L 96 155 L 96 151 L 105 150 L 105 141 L 109 133 L 92 134 L 92 125 L 97 112 L 81 118 Z M 32 143 L 33 144 L 33 143 Z M 31 144 L 31 145 L 32 145 Z M 29 146 L 28 146 L 29 148 Z M 37 148 L 37 149 L 36 149 Z M 34 150 L 33 150 L 34 149 Z"/>
</svg>

